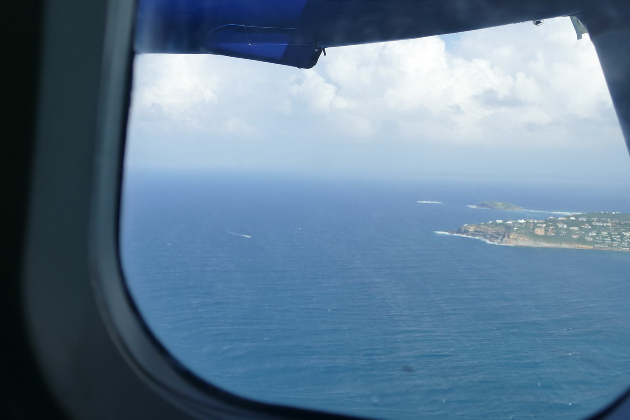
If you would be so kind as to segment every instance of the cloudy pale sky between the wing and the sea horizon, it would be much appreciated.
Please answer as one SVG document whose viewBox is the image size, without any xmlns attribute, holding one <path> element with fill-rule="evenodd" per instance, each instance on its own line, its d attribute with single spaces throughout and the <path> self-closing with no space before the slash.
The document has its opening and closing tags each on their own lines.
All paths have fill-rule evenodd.
<svg viewBox="0 0 630 420">
<path fill-rule="evenodd" d="M 326 49 L 313 69 L 137 55 L 128 168 L 630 180 L 569 18 Z"/>
</svg>

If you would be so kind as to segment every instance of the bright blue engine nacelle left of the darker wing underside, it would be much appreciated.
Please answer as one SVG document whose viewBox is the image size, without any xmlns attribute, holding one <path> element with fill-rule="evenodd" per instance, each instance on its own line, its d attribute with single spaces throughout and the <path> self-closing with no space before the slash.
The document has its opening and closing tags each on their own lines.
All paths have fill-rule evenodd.
<svg viewBox="0 0 630 420">
<path fill-rule="evenodd" d="M 140 1 L 136 52 L 221 54 L 310 68 L 321 54 L 298 25 L 307 0 Z"/>
</svg>

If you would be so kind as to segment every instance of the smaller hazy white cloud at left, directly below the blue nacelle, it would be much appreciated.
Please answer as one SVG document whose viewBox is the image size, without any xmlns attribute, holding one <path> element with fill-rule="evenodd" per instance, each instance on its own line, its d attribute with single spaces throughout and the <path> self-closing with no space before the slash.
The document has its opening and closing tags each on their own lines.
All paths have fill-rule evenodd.
<svg viewBox="0 0 630 420">
<path fill-rule="evenodd" d="M 277 89 L 286 85 L 287 71 L 293 69 L 280 68 L 274 73 L 269 66 L 205 54 L 138 55 L 132 124 L 146 136 L 163 131 L 255 134 L 260 110 L 290 109 Z M 280 91 L 286 91 L 286 86 Z"/>
</svg>

